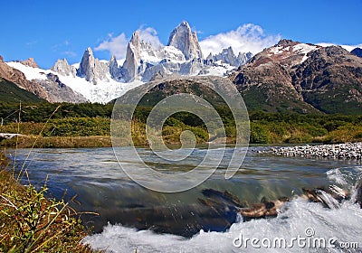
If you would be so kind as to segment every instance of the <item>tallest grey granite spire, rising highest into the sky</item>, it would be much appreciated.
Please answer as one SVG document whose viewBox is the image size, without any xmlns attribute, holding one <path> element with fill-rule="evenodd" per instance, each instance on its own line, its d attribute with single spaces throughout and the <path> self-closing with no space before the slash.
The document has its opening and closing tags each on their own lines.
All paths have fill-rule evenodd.
<svg viewBox="0 0 362 253">
<path fill-rule="evenodd" d="M 197 35 L 191 31 L 190 25 L 186 21 L 180 23 L 175 30 L 172 31 L 167 45 L 174 46 L 183 52 L 186 60 L 204 58 L 197 40 Z"/>
</svg>

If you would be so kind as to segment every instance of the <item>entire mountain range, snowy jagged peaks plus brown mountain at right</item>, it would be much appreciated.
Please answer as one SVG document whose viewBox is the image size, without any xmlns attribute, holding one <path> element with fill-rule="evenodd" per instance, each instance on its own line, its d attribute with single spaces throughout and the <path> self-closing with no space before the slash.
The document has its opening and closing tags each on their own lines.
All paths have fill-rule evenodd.
<svg viewBox="0 0 362 253">
<path fill-rule="evenodd" d="M 0 58 L 0 78 L 50 102 L 106 103 L 149 81 L 218 76 L 233 81 L 251 110 L 360 114 L 361 52 L 281 40 L 253 56 L 235 55 L 229 47 L 205 57 L 196 33 L 183 22 L 162 47 L 133 33 L 125 61 L 99 60 L 90 48 L 79 64 L 58 60 L 51 70 L 40 69 L 33 59 Z"/>
</svg>

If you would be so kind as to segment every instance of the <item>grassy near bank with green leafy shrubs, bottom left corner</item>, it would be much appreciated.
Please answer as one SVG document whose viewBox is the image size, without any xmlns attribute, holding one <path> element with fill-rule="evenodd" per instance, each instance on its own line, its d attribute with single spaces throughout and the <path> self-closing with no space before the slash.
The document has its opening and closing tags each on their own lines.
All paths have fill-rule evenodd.
<svg viewBox="0 0 362 253">
<path fill-rule="evenodd" d="M 46 191 L 19 184 L 0 153 L 0 252 L 91 252 L 78 214 Z"/>
</svg>

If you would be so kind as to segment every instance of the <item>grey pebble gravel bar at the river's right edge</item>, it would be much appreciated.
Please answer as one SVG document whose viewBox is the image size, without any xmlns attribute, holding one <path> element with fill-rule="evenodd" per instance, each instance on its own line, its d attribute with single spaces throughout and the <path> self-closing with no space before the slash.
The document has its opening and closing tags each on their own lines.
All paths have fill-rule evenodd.
<svg viewBox="0 0 362 253">
<path fill-rule="evenodd" d="M 362 160 L 362 143 L 272 147 L 268 153 L 307 158 Z"/>
</svg>

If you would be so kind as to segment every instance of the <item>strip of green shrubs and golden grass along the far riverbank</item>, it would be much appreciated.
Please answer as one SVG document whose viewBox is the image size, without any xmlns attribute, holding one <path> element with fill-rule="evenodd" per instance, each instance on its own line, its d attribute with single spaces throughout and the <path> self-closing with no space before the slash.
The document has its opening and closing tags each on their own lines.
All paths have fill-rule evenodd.
<svg viewBox="0 0 362 253">
<path fill-rule="evenodd" d="M 326 120 L 319 117 L 315 121 L 303 119 L 276 120 L 262 118 L 251 120 L 252 144 L 336 144 L 362 141 L 362 124 L 350 120 Z M 168 145 L 179 144 L 179 136 L 185 130 L 194 132 L 198 144 L 213 140 L 205 126 L 189 126 L 173 119 L 163 127 L 162 136 Z M 147 145 L 145 124 L 135 121 L 132 129 L 133 143 Z M 19 133 L 24 136 L 4 139 L 5 147 L 104 147 L 111 146 L 109 118 L 64 118 L 45 123 L 11 123 L 0 126 L 0 133 Z M 234 126 L 225 126 L 227 142 L 235 140 Z M 124 145 L 130 145 L 125 143 Z"/>
</svg>

